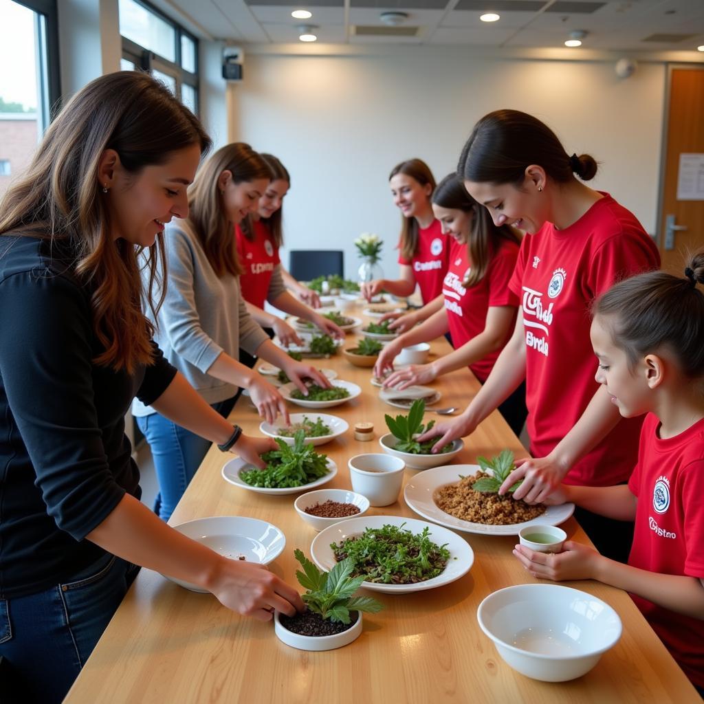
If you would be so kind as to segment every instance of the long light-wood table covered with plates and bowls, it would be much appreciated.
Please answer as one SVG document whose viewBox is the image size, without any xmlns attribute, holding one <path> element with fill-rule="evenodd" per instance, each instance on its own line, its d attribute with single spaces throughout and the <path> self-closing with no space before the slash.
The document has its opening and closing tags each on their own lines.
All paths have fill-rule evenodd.
<svg viewBox="0 0 704 704">
<path fill-rule="evenodd" d="M 358 313 L 353 313 L 358 314 Z M 353 336 L 348 344 L 353 346 Z M 446 342 L 432 344 L 432 353 L 448 351 Z M 341 379 L 359 384 L 363 394 L 325 413 L 375 426 L 375 440 L 353 439 L 352 430 L 322 446 L 338 467 L 327 487 L 350 488 L 347 460 L 380 452 L 389 409 L 370 384 L 371 370 L 353 367 L 343 356 L 324 360 Z M 460 406 L 479 384 L 468 370 L 440 377 L 434 386 L 439 406 Z M 291 408 L 291 412 L 301 410 Z M 305 409 L 303 409 L 305 410 Z M 258 434 L 260 419 L 246 398 L 232 420 L 245 432 Z M 434 417 L 427 415 L 427 419 Z M 437 416 L 435 416 L 437 417 Z M 493 413 L 465 440 L 456 463 L 473 463 L 477 455 L 509 448 L 524 453 L 498 413 Z M 294 548 L 310 555 L 315 531 L 294 510 L 292 496 L 263 496 L 227 484 L 220 475 L 232 455 L 210 448 L 199 472 L 172 516 L 179 524 L 197 517 L 244 515 L 268 520 L 286 535 L 287 545 L 270 569 L 297 584 Z M 415 470 L 406 470 L 406 480 Z M 302 492 L 301 492 L 302 493 Z M 368 515 L 416 516 L 403 501 L 371 508 Z M 567 533 L 589 543 L 574 519 Z M 512 670 L 477 623 L 477 606 L 491 591 L 534 582 L 513 557 L 513 537 L 461 534 L 474 550 L 474 566 L 453 584 L 415 594 L 374 593 L 385 605 L 365 615 L 358 640 L 339 650 L 308 653 L 289 648 L 274 635 L 272 622 L 241 617 L 209 594 L 182 589 L 150 570 L 142 570 L 89 658 L 66 702 L 230 703 L 260 702 L 701 702 L 696 691 L 631 599 L 598 582 L 565 583 L 602 598 L 619 613 L 624 630 L 619 643 L 605 653 L 584 677 L 547 684 Z"/>
</svg>

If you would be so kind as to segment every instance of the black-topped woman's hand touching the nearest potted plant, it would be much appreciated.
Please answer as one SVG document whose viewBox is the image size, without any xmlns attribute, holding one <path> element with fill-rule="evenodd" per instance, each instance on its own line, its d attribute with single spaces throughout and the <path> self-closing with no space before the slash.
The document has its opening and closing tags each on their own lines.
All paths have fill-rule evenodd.
<svg viewBox="0 0 704 704">
<path fill-rule="evenodd" d="M 265 565 L 245 560 L 222 558 L 209 589 L 223 606 L 260 621 L 271 620 L 274 609 L 294 616 L 304 608 L 293 587 L 269 572 Z"/>
</svg>

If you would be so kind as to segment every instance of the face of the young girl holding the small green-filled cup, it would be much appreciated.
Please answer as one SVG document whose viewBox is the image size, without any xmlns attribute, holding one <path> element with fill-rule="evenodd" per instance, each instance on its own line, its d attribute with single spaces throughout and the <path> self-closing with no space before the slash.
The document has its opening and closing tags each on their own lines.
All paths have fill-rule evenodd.
<svg viewBox="0 0 704 704">
<path fill-rule="evenodd" d="M 613 343 L 608 321 L 598 315 L 591 323 L 589 334 L 599 360 L 594 378 L 608 391 L 619 413 L 631 418 L 652 410 L 646 360 L 639 360 L 636 367 L 631 368 L 627 354 Z"/>
</svg>

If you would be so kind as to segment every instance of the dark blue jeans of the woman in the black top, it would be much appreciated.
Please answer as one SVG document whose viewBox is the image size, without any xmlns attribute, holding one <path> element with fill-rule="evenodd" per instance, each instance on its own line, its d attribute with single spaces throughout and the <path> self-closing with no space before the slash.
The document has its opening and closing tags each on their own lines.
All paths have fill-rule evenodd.
<svg viewBox="0 0 704 704">
<path fill-rule="evenodd" d="M 137 572 L 106 553 L 46 591 L 0 599 L 0 700 L 61 702 Z"/>
</svg>

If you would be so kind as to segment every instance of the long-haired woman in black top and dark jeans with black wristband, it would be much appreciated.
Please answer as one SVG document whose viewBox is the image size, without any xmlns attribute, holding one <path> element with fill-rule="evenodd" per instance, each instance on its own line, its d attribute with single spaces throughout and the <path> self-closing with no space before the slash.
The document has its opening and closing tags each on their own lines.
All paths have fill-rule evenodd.
<svg viewBox="0 0 704 704">
<path fill-rule="evenodd" d="M 232 561 L 139 502 L 124 415 L 137 396 L 218 444 L 233 427 L 151 341 L 137 253 L 163 259 L 210 146 L 147 75 L 88 84 L 0 204 L 0 679 L 3 701 L 60 701 L 136 568 L 199 584 L 261 620 L 298 593 Z M 156 242 L 156 245 L 155 245 Z M 158 306 L 158 302 L 156 303 Z M 232 450 L 262 467 L 268 439 Z"/>
</svg>

